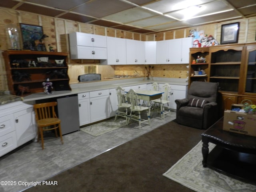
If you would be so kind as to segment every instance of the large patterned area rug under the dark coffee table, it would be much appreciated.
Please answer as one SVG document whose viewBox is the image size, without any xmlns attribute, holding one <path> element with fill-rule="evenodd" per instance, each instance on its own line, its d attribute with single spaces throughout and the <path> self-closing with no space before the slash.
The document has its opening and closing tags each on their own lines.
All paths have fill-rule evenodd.
<svg viewBox="0 0 256 192">
<path fill-rule="evenodd" d="M 209 143 L 209 150 L 214 148 Z M 256 186 L 230 178 L 202 166 L 202 142 L 163 175 L 196 192 L 255 192 Z"/>
</svg>

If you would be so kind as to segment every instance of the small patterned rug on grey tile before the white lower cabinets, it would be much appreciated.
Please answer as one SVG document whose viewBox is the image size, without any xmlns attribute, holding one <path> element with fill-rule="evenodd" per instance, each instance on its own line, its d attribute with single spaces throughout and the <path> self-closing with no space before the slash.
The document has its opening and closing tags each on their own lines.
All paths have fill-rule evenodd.
<svg viewBox="0 0 256 192">
<path fill-rule="evenodd" d="M 124 126 L 125 124 L 126 124 L 126 120 L 117 119 L 114 122 L 114 119 L 110 119 L 103 122 L 99 122 L 97 124 L 80 128 L 80 130 L 96 137 L 106 132 L 110 132 L 112 130 L 118 129 Z"/>
</svg>

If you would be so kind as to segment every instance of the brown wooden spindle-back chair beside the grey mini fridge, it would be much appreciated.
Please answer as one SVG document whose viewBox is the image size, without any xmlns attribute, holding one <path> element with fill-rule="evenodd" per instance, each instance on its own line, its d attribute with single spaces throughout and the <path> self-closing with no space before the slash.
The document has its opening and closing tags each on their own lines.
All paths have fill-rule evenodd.
<svg viewBox="0 0 256 192">
<path fill-rule="evenodd" d="M 36 124 L 38 126 L 38 139 L 41 138 L 42 149 L 44 149 L 44 131 L 54 130 L 56 137 L 58 137 L 57 129 L 59 130 L 60 140 L 63 144 L 62 132 L 60 127 L 60 119 L 57 117 L 54 110 L 54 106 L 57 105 L 57 102 L 48 102 L 34 104 L 34 110 L 36 114 Z"/>
</svg>

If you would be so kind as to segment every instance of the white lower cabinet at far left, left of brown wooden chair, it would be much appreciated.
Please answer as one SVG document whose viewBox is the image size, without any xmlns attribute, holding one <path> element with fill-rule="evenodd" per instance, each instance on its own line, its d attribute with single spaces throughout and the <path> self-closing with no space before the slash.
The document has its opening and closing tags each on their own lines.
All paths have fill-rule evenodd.
<svg viewBox="0 0 256 192">
<path fill-rule="evenodd" d="M 0 106 L 0 156 L 36 137 L 32 105 L 13 102 Z"/>
</svg>

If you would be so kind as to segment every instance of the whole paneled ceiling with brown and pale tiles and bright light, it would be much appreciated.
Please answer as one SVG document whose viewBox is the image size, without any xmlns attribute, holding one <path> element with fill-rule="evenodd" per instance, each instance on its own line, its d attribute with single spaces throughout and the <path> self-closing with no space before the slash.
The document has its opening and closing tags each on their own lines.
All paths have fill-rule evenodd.
<svg viewBox="0 0 256 192">
<path fill-rule="evenodd" d="M 256 0 L 1 0 L 0 7 L 143 34 L 256 16 Z"/>
</svg>

